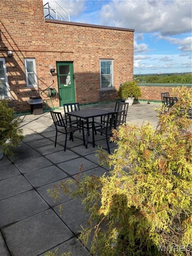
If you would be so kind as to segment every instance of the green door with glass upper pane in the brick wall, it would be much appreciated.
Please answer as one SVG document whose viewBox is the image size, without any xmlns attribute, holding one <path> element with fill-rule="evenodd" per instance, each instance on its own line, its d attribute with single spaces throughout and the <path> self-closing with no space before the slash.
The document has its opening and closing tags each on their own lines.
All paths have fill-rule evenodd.
<svg viewBox="0 0 192 256">
<path fill-rule="evenodd" d="M 75 102 L 75 84 L 72 62 L 57 62 L 57 79 L 60 107 Z"/>
</svg>

